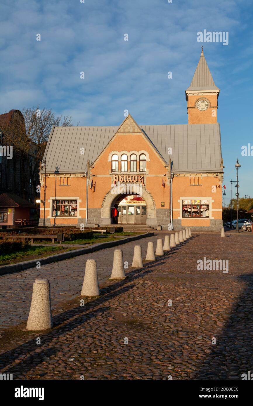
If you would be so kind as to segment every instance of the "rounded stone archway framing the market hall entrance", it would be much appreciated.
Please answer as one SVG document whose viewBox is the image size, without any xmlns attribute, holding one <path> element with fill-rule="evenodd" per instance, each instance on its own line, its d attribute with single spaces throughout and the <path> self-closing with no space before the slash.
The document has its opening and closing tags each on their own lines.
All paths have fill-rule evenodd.
<svg viewBox="0 0 253 406">
<path fill-rule="evenodd" d="M 123 195 L 125 195 L 125 193 L 119 193 L 119 186 L 115 186 L 105 195 L 101 208 L 101 224 L 111 224 L 111 207 L 117 199 Z M 149 190 L 143 186 L 141 186 L 141 197 L 145 200 L 147 205 L 147 225 L 156 225 L 156 203 Z"/>
</svg>

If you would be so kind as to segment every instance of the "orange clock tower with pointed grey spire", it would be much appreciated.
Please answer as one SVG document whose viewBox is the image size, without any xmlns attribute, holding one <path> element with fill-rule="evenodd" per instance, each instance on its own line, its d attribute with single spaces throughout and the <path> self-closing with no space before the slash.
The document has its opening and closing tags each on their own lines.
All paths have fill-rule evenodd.
<svg viewBox="0 0 253 406">
<path fill-rule="evenodd" d="M 217 123 L 220 89 L 214 84 L 214 80 L 205 60 L 203 46 L 201 48 L 201 56 L 192 82 L 185 91 L 188 124 Z"/>
</svg>

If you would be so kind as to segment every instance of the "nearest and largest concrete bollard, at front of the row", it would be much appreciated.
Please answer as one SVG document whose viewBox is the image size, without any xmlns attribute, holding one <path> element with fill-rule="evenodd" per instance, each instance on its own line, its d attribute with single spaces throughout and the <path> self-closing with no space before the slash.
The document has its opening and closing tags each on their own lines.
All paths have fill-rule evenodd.
<svg viewBox="0 0 253 406">
<path fill-rule="evenodd" d="M 40 331 L 52 326 L 50 283 L 48 279 L 35 279 L 26 328 Z"/>
</svg>

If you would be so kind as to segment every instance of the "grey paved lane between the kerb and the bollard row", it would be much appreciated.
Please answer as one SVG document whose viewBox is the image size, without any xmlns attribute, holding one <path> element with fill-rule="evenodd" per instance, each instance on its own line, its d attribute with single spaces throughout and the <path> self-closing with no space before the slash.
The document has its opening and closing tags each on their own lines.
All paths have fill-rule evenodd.
<svg viewBox="0 0 253 406">
<path fill-rule="evenodd" d="M 148 238 L 156 241 L 157 237 Z M 0 331 L 19 324 L 28 317 L 32 298 L 32 286 L 36 278 L 47 278 L 51 283 L 52 308 L 63 300 L 69 300 L 80 294 L 84 279 L 85 261 L 97 259 L 99 281 L 110 277 L 113 263 L 113 251 L 122 249 L 124 261 L 132 263 L 135 245 L 141 245 L 143 256 L 147 252 L 147 238 L 108 248 L 95 253 L 80 255 L 55 263 L 41 266 L 41 269 L 29 268 L 0 276 Z"/>
</svg>

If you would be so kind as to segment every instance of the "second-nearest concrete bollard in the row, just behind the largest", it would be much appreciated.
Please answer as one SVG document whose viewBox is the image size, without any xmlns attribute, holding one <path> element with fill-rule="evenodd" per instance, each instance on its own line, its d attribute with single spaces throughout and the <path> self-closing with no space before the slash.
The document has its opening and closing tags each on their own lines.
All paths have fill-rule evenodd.
<svg viewBox="0 0 253 406">
<path fill-rule="evenodd" d="M 81 296 L 99 296 L 97 261 L 95 259 L 87 259 L 86 261 Z"/>
</svg>

